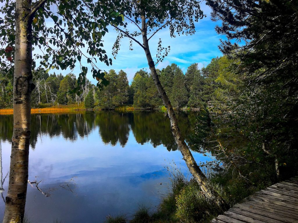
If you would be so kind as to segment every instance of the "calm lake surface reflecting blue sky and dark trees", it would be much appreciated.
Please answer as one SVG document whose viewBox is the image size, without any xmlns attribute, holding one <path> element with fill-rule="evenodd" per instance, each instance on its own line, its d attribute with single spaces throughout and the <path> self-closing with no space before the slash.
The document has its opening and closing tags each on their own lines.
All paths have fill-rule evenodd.
<svg viewBox="0 0 298 223">
<path fill-rule="evenodd" d="M 177 115 L 188 143 L 196 115 Z M 9 170 L 12 124 L 12 115 L 0 115 L 2 180 Z M 164 167 L 175 162 L 188 174 L 161 112 L 34 114 L 31 128 L 29 180 L 38 176 L 38 186 L 51 194 L 28 184 L 26 213 L 32 223 L 95 223 L 108 214 L 132 214 L 138 205 L 154 208 L 167 191 Z M 210 160 L 193 155 L 197 162 Z M 4 197 L 7 185 L 8 177 Z M 0 220 L 3 213 L 0 198 Z"/>
</svg>

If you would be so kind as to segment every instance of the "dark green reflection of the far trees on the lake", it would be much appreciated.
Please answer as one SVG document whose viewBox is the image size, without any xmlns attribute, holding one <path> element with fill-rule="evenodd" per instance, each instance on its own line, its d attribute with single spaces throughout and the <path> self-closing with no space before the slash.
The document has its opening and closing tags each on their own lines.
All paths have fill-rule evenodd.
<svg viewBox="0 0 298 223">
<path fill-rule="evenodd" d="M 195 113 L 177 114 L 182 135 L 189 142 Z M 78 112 L 74 114 L 33 114 L 31 118 L 30 145 L 35 149 L 39 136 L 51 138 L 62 135 L 64 139 L 76 141 L 84 138 L 99 127 L 99 135 L 105 144 L 124 147 L 132 131 L 136 142 L 143 145 L 150 142 L 153 147 L 164 145 L 167 150 L 177 150 L 170 130 L 170 121 L 161 112 Z M 1 139 L 11 141 L 13 116 L 0 115 Z"/>
</svg>

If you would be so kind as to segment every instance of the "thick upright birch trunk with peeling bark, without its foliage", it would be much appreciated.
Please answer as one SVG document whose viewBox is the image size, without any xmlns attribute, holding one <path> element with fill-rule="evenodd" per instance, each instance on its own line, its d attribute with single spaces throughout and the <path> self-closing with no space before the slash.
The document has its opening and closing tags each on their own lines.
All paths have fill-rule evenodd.
<svg viewBox="0 0 298 223">
<path fill-rule="evenodd" d="M 15 3 L 15 64 L 13 80 L 13 137 L 9 185 L 3 223 L 21 223 L 24 219 L 30 145 L 30 95 L 32 84 L 32 44 L 30 0 Z"/>
</svg>

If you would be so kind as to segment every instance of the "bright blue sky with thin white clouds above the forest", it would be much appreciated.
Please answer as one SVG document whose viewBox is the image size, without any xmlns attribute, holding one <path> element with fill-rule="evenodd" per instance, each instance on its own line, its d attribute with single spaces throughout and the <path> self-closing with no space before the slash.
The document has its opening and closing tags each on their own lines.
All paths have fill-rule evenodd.
<svg viewBox="0 0 298 223">
<path fill-rule="evenodd" d="M 0 5 L 1 6 L 1 5 Z M 162 39 L 162 46 L 166 47 L 170 45 L 170 53 L 164 59 L 164 61 L 160 62 L 156 68 L 162 69 L 171 63 L 176 63 L 185 73 L 187 67 L 193 63 L 198 63 L 199 68 L 207 65 L 213 57 L 221 56 L 221 52 L 218 49 L 218 45 L 220 44 L 220 38 L 224 38 L 224 36 L 220 36 L 215 32 L 215 25 L 218 23 L 211 21 L 210 12 L 211 9 L 205 5 L 203 2 L 201 5 L 204 14 L 207 15 L 206 18 L 201 19 L 197 23 L 195 23 L 195 34 L 191 36 L 176 36 L 176 38 L 170 37 L 169 29 L 160 30 L 149 42 L 150 51 L 155 59 L 157 43 L 159 38 Z M 55 10 L 54 8 L 52 10 Z M 53 26 L 54 23 L 50 19 L 46 19 L 47 26 Z M 113 29 L 113 27 L 109 27 L 109 32 L 104 36 L 104 49 L 107 51 L 109 58 L 113 59 L 112 56 L 112 47 L 116 40 L 117 32 Z M 41 53 L 39 49 L 36 49 L 33 53 Z M 133 44 L 134 50 L 131 51 L 129 49 L 129 40 L 128 38 L 124 38 L 121 42 L 121 47 L 116 59 L 113 59 L 112 66 L 106 66 L 103 63 L 98 63 L 97 66 L 102 70 L 110 70 L 114 69 L 116 72 L 119 70 L 124 70 L 127 73 L 128 81 L 131 83 L 134 74 L 136 71 L 140 69 L 145 69 L 149 71 L 147 59 L 145 56 L 144 50 L 136 43 Z M 34 58 L 33 58 L 34 59 Z M 35 60 L 38 66 L 38 60 Z M 82 65 L 90 67 L 87 64 L 86 59 L 82 58 Z M 91 70 L 91 67 L 88 69 Z M 62 73 L 64 76 L 72 72 L 76 76 L 80 73 L 79 64 L 76 65 L 74 70 L 50 70 L 49 73 Z M 97 81 L 92 78 L 91 73 L 87 74 L 87 78 L 93 83 L 96 84 Z"/>
</svg>

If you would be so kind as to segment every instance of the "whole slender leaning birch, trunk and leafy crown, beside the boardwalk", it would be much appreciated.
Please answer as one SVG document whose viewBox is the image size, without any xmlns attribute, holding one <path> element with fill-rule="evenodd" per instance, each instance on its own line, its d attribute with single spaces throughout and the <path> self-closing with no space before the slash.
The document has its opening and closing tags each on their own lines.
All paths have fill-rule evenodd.
<svg viewBox="0 0 298 223">
<path fill-rule="evenodd" d="M 144 50 L 152 78 L 158 89 L 159 95 L 162 98 L 164 106 L 167 108 L 167 114 L 171 123 L 171 131 L 187 167 L 201 187 L 204 196 L 208 200 L 215 202 L 221 210 L 225 210 L 228 207 L 227 203 L 212 188 L 212 186 L 209 185 L 207 177 L 195 162 L 179 129 L 173 106 L 156 72 L 155 65 L 168 55 L 170 46 L 165 48 L 162 47 L 162 41 L 159 40 L 155 62 L 149 47 L 149 40 L 152 40 L 152 37 L 157 32 L 166 27 L 169 28 L 171 37 L 175 37 L 176 34 L 194 34 L 195 22 L 204 17 L 204 14 L 200 9 L 199 1 L 122 1 L 120 11 L 121 14 L 124 15 L 125 21 L 122 23 L 122 26 L 115 26 L 112 24 L 112 26 L 119 32 L 114 44 L 114 55 L 117 54 L 120 41 L 123 37 L 128 37 L 131 43 L 134 41 Z M 130 24 L 128 25 L 128 23 Z M 134 28 L 131 29 L 132 25 Z M 138 37 L 141 38 L 139 39 Z"/>
</svg>

